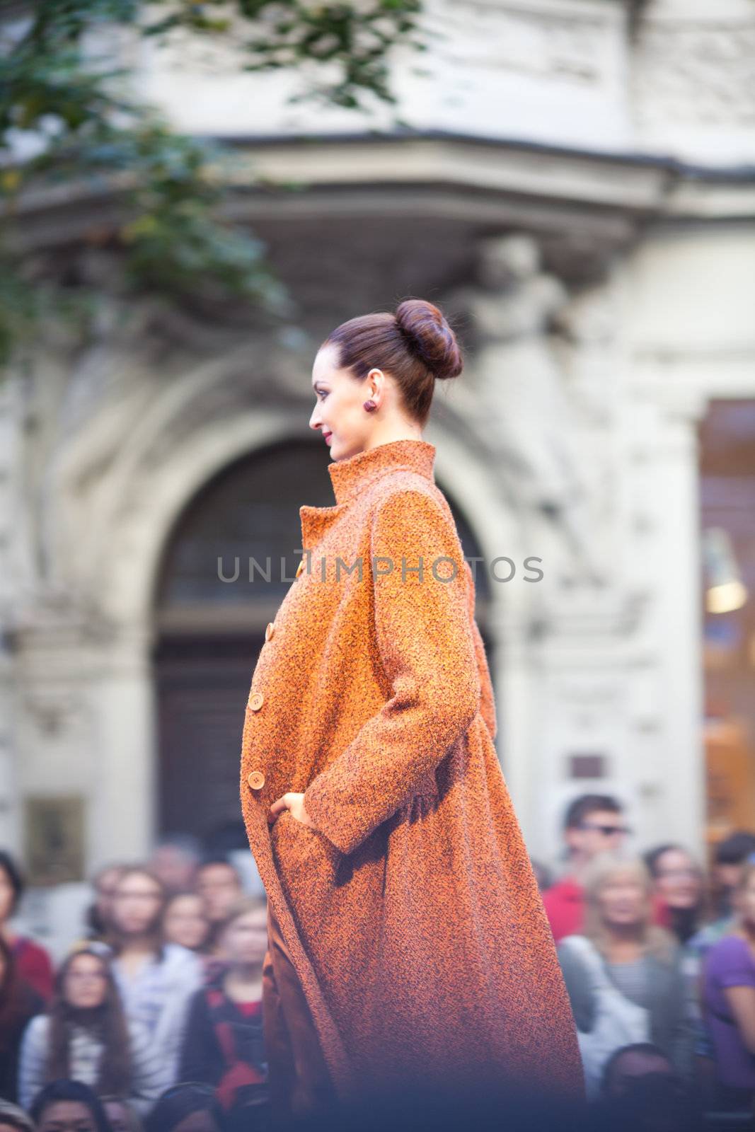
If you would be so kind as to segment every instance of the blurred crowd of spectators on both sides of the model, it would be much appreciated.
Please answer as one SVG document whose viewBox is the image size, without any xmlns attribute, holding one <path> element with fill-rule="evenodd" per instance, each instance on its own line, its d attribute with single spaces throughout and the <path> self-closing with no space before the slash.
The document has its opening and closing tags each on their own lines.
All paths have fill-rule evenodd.
<svg viewBox="0 0 755 1132">
<path fill-rule="evenodd" d="M 617 799 L 584 795 L 560 875 L 534 864 L 584 1065 L 574 1126 L 755 1129 L 755 833 L 703 865 L 671 843 L 630 856 L 630 832 Z M 15 928 L 23 894 L 0 851 L 0 1132 L 275 1126 L 267 908 L 229 857 L 177 837 L 102 868 L 58 963 Z"/>
</svg>

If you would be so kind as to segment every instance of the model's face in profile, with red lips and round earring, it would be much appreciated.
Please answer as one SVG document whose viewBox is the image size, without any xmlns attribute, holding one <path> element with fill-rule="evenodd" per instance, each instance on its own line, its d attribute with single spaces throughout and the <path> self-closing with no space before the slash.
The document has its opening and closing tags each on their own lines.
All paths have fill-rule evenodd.
<svg viewBox="0 0 755 1132">
<path fill-rule="evenodd" d="M 315 358 L 315 409 L 309 427 L 321 432 L 333 460 L 344 460 L 368 447 L 375 413 L 364 410 L 364 402 L 372 395 L 372 379 L 383 397 L 389 398 L 394 383 L 383 370 L 370 370 L 363 381 L 358 381 L 351 370 L 338 368 L 338 350 L 333 343 L 323 346 Z"/>
</svg>

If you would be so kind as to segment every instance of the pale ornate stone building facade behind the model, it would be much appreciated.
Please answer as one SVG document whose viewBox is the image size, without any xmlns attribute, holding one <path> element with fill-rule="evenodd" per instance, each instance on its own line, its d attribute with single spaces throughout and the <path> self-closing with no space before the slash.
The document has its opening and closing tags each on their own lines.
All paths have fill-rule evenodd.
<svg viewBox="0 0 755 1132">
<path fill-rule="evenodd" d="M 532 854 L 555 857 L 587 790 L 626 800 L 638 844 L 702 849 L 700 428 L 755 397 L 755 7 L 428 0 L 427 20 L 422 74 L 396 53 L 400 125 L 289 103 L 298 79 L 223 52 L 123 48 L 178 127 L 233 142 L 229 212 L 299 314 L 113 297 L 85 352 L 41 344 L 0 392 L 0 842 L 59 843 L 49 880 L 143 856 L 172 799 L 194 832 L 233 825 L 242 697 L 285 583 L 220 575 L 284 555 L 293 576 L 299 505 L 332 501 L 315 349 L 406 294 L 466 349 L 426 438 L 481 559 Z M 109 208 L 88 187 L 36 197 L 24 238 L 88 247 Z"/>
</svg>

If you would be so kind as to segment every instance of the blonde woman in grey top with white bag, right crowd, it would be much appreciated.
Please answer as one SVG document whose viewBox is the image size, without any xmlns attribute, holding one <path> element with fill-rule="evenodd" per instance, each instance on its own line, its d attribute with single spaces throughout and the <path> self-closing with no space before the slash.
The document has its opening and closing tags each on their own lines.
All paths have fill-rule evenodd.
<svg viewBox="0 0 755 1132">
<path fill-rule="evenodd" d="M 681 953 L 651 921 L 651 878 L 641 860 L 597 858 L 585 876 L 585 926 L 558 945 L 580 1032 L 587 1092 L 595 1096 L 608 1058 L 652 1041 L 689 1078 L 692 1030 Z"/>
</svg>

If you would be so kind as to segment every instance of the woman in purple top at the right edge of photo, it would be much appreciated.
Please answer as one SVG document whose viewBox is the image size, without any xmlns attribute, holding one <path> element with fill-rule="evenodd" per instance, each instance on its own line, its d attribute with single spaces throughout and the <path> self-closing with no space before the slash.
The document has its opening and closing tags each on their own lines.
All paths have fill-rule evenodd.
<svg viewBox="0 0 755 1132">
<path fill-rule="evenodd" d="M 755 1100 L 755 864 L 744 866 L 733 894 L 732 932 L 703 964 L 703 1014 L 713 1041 L 719 1103 L 752 1108 Z"/>
</svg>

